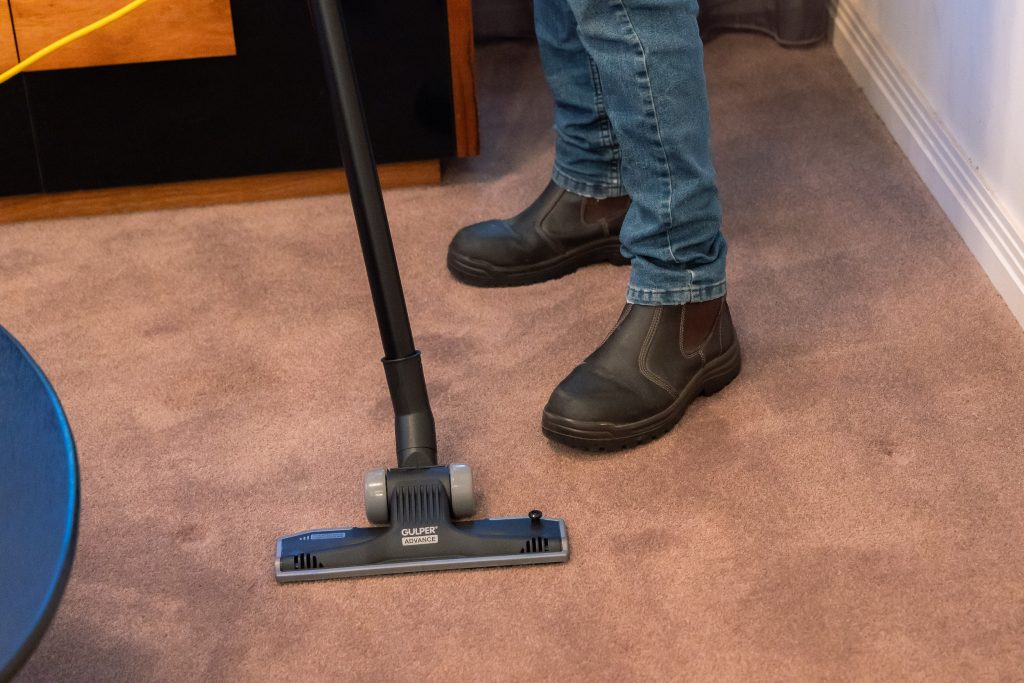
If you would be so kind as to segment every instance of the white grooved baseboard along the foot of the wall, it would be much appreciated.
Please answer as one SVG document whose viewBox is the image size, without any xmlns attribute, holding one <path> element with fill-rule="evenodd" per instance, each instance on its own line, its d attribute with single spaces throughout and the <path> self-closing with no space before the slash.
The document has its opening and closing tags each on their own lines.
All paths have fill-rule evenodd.
<svg viewBox="0 0 1024 683">
<path fill-rule="evenodd" d="M 1024 225 L 1015 225 L 913 80 L 849 0 L 831 0 L 840 59 L 1024 327 Z"/>
</svg>

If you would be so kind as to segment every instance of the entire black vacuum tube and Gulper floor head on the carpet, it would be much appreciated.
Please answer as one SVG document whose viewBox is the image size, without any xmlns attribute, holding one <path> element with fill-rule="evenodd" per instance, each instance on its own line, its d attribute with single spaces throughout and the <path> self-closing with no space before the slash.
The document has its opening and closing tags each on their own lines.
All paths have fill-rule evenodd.
<svg viewBox="0 0 1024 683">
<path fill-rule="evenodd" d="M 367 519 L 375 526 L 312 529 L 278 539 L 278 581 L 565 562 L 569 548 L 563 520 L 539 510 L 522 517 L 465 519 L 476 508 L 470 468 L 437 464 L 423 365 L 410 329 L 345 26 L 338 0 L 311 0 L 310 8 L 384 346 L 398 465 L 364 477 Z"/>
</svg>

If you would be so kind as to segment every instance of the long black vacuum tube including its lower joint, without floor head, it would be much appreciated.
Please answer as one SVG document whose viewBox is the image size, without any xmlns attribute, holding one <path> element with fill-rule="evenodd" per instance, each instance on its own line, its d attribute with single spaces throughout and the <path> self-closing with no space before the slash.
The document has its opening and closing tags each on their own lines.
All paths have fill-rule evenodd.
<svg viewBox="0 0 1024 683">
<path fill-rule="evenodd" d="M 434 417 L 430 412 L 420 352 L 413 342 L 348 35 L 337 0 L 312 0 L 311 9 L 324 55 L 338 151 L 348 177 L 352 212 L 384 346 L 384 373 L 394 408 L 398 466 L 436 465 Z"/>
</svg>

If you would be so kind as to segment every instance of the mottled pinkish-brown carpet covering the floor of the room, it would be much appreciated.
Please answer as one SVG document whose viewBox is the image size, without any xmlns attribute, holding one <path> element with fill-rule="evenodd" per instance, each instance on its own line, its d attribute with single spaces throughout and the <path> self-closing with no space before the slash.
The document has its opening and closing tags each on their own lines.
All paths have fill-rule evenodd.
<svg viewBox="0 0 1024 683">
<path fill-rule="evenodd" d="M 274 539 L 361 523 L 393 458 L 347 200 L 0 226 L 0 323 L 84 492 L 22 679 L 1024 678 L 1024 333 L 830 48 L 707 57 L 745 368 L 652 444 L 539 428 L 626 269 L 443 268 L 547 180 L 528 46 L 480 52 L 483 155 L 387 195 L 442 457 L 482 514 L 564 516 L 565 565 L 274 583 Z"/>
</svg>

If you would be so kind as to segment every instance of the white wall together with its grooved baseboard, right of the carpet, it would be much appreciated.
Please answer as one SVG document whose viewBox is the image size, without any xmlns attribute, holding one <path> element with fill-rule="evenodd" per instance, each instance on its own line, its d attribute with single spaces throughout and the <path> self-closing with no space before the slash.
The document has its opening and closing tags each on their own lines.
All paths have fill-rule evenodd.
<svg viewBox="0 0 1024 683">
<path fill-rule="evenodd" d="M 1024 325 L 1024 1 L 833 2 L 837 52 Z"/>
</svg>

